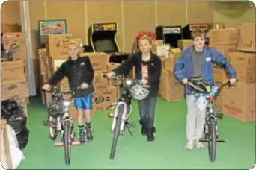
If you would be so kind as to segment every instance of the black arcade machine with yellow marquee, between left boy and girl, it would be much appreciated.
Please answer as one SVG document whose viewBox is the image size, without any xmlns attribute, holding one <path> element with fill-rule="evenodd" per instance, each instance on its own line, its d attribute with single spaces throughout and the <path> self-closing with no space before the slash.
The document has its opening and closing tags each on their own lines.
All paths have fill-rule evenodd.
<svg viewBox="0 0 256 170">
<path fill-rule="evenodd" d="M 115 34 L 118 31 L 116 22 L 94 23 L 88 29 L 88 42 L 93 52 L 110 54 L 109 62 L 122 63 L 127 60 L 128 54 L 121 53 Z"/>
</svg>

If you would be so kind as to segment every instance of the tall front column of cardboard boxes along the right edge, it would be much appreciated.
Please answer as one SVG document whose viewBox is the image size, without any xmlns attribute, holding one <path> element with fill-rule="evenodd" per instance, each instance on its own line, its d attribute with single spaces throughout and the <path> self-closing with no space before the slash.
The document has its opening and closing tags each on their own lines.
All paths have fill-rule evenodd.
<svg viewBox="0 0 256 170">
<path fill-rule="evenodd" d="M 242 122 L 255 121 L 255 23 L 245 23 L 237 51 L 228 53 L 237 71 L 236 86 L 223 92 L 222 112 Z"/>
</svg>

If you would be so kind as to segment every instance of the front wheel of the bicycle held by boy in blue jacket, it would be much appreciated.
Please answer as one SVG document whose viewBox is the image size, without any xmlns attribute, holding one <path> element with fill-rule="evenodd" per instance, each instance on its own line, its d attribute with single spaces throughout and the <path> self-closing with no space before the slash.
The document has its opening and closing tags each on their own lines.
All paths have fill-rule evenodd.
<svg viewBox="0 0 256 170">
<path fill-rule="evenodd" d="M 216 127 L 215 120 L 213 118 L 209 119 L 209 141 L 208 141 L 208 153 L 211 162 L 216 159 Z"/>
</svg>

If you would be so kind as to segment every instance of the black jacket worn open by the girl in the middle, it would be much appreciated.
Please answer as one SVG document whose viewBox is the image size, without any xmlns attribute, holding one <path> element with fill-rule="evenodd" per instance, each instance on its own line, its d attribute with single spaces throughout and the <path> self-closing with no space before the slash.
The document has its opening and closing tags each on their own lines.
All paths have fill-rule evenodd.
<svg viewBox="0 0 256 170">
<path fill-rule="evenodd" d="M 123 75 L 126 72 L 132 70 L 132 67 L 135 66 L 135 78 L 141 80 L 142 72 L 141 66 L 142 64 L 148 66 L 148 82 L 150 84 L 150 96 L 157 96 L 159 93 L 159 83 L 162 72 L 162 62 L 160 57 L 156 54 L 151 53 L 151 58 L 147 62 L 142 60 L 142 53 L 138 52 L 133 54 L 128 60 L 126 60 L 121 66 L 118 66 L 116 69 L 112 71 L 115 72 L 116 75 Z"/>
</svg>

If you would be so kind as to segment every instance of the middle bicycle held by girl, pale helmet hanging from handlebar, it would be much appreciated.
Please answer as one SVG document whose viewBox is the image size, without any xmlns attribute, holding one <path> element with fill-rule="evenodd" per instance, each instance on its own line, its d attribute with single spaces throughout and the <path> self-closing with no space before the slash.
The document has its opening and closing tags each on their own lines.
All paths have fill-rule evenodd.
<svg viewBox="0 0 256 170">
<path fill-rule="evenodd" d="M 106 75 L 103 75 L 103 77 L 107 78 Z M 132 95 L 132 92 L 135 90 L 133 87 L 135 87 L 136 85 L 142 85 L 141 81 L 132 80 L 130 78 L 125 78 L 123 80 L 121 77 L 115 77 L 115 79 L 119 79 L 124 82 L 124 89 L 118 101 L 111 104 L 109 107 L 107 107 L 107 110 L 109 110 L 109 108 L 115 108 L 114 114 L 108 114 L 109 118 L 113 119 L 112 133 L 114 133 L 113 140 L 112 140 L 112 148 L 109 156 L 110 159 L 114 159 L 115 151 L 118 145 L 119 135 L 124 134 L 126 128 L 129 130 L 130 135 L 133 137 L 132 131 L 129 128 L 135 127 L 135 126 L 130 124 L 128 121 L 129 116 L 132 113 L 131 104 L 132 104 L 132 98 L 134 98 L 134 96 Z M 149 91 L 147 89 L 144 89 L 143 98 L 146 98 L 148 93 Z M 136 98 L 136 99 L 141 100 L 143 98 Z"/>
</svg>

